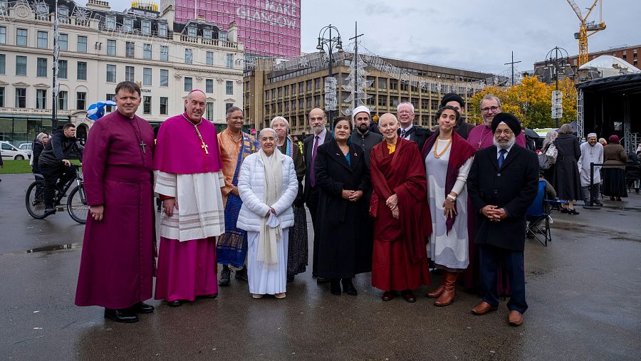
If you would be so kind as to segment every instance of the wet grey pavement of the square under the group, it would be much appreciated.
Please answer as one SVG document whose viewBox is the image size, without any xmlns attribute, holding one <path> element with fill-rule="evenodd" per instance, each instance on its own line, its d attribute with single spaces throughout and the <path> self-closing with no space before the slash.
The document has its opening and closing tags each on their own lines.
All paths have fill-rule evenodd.
<svg viewBox="0 0 641 361">
<path fill-rule="evenodd" d="M 103 309 L 73 305 L 84 227 L 63 212 L 31 219 L 28 174 L 0 183 L 0 359 L 225 360 L 639 360 L 641 358 L 641 196 L 605 201 L 578 216 L 553 214 L 553 241 L 526 241 L 529 309 L 521 327 L 507 309 L 469 310 L 477 295 L 459 291 L 437 308 L 380 300 L 370 275 L 358 296 L 335 296 L 308 271 L 283 300 L 254 300 L 232 278 L 219 298 L 170 308 L 123 325 Z M 439 279 L 434 276 L 432 283 Z"/>
</svg>

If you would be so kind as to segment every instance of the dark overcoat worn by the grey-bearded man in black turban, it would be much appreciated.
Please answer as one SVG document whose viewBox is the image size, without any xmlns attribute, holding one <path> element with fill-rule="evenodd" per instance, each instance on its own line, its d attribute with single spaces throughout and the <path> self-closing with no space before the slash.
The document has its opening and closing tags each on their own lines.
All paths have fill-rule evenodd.
<svg viewBox="0 0 641 361">
<path fill-rule="evenodd" d="M 515 252 L 525 246 L 526 211 L 538 193 L 536 153 L 514 145 L 499 169 L 496 147 L 476 152 L 467 178 L 467 190 L 474 211 L 474 243 Z M 499 222 L 480 213 L 488 205 L 506 209 L 509 216 Z"/>
</svg>

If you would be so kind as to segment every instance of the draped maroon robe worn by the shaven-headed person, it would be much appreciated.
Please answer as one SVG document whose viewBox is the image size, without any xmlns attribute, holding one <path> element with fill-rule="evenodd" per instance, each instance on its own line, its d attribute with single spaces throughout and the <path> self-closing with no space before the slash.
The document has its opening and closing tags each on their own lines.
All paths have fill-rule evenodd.
<svg viewBox="0 0 641 361">
<path fill-rule="evenodd" d="M 427 179 L 415 142 L 398 138 L 391 155 L 387 142 L 371 152 L 374 192 L 370 214 L 374 222 L 372 286 L 383 291 L 402 291 L 429 285 L 427 248 L 432 221 L 427 205 Z M 397 194 L 399 219 L 385 204 Z"/>
</svg>

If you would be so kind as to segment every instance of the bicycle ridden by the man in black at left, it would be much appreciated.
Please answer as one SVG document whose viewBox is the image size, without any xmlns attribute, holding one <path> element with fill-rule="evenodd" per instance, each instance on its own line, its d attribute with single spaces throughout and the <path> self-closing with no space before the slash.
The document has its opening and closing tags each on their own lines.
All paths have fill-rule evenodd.
<svg viewBox="0 0 641 361">
<path fill-rule="evenodd" d="M 67 212 L 71 219 L 74 221 L 84 224 L 87 221 L 87 215 L 89 213 L 89 206 L 87 205 L 87 199 L 85 198 L 85 189 L 83 187 L 83 172 L 80 170 L 80 165 L 71 164 L 75 172 L 75 178 L 67 182 L 63 189 L 55 187 L 55 194 L 53 196 L 53 208 L 58 209 L 62 199 L 67 197 L 67 192 L 71 188 L 72 184 L 76 184 L 76 187 L 71 189 L 67 197 Z M 25 205 L 26 209 L 33 218 L 35 219 L 45 219 L 47 216 L 53 213 L 47 214 L 45 212 L 44 204 L 44 177 L 40 174 L 36 174 L 36 181 L 31 183 L 26 190 L 25 194 Z M 63 209 L 64 210 L 64 206 Z M 54 212 L 55 213 L 55 212 Z"/>
</svg>

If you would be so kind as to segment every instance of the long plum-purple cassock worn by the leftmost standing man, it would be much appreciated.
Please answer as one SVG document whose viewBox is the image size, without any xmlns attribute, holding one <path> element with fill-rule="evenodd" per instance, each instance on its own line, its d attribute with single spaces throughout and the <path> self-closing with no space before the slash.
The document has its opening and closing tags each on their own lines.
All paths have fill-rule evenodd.
<svg viewBox="0 0 641 361">
<path fill-rule="evenodd" d="M 87 219 L 76 305 L 121 309 L 152 297 L 153 149 L 154 132 L 141 117 L 115 111 L 90 129 L 83 155 L 85 196 L 105 212 L 102 221 Z"/>
</svg>

